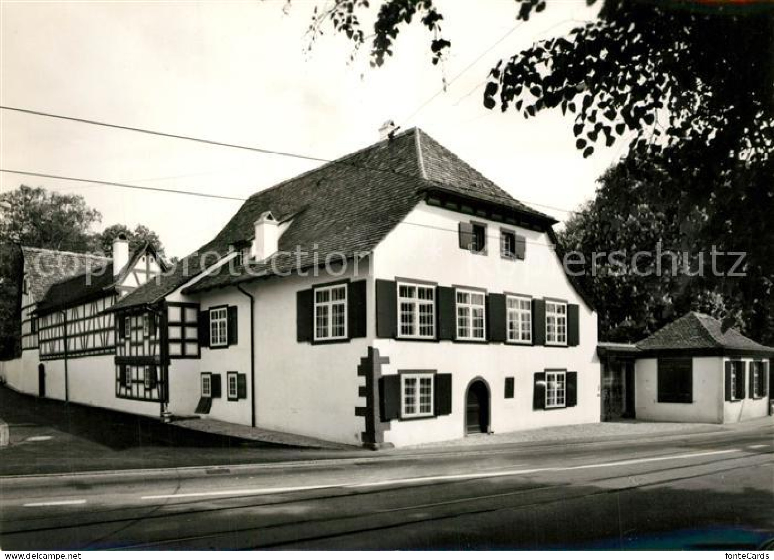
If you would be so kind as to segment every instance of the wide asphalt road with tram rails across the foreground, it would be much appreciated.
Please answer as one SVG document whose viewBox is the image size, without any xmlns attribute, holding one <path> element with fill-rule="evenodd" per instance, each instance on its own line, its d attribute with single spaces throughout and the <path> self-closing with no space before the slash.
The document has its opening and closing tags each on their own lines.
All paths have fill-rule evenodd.
<svg viewBox="0 0 774 560">
<path fill-rule="evenodd" d="M 3 550 L 753 549 L 774 429 L 0 479 Z"/>
</svg>

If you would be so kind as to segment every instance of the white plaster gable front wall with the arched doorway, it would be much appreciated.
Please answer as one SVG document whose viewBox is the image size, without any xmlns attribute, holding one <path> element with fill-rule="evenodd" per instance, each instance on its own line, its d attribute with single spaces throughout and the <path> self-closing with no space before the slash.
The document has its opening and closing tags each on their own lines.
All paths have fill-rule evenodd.
<svg viewBox="0 0 774 560">
<path fill-rule="evenodd" d="M 579 304 L 580 344 L 575 347 L 464 344 L 451 341 L 377 339 L 389 356 L 384 375 L 399 369 L 435 369 L 452 374 L 452 414 L 434 419 L 393 420 L 385 441 L 396 446 L 447 440 L 464 435 L 467 385 L 485 378 L 491 392 L 491 429 L 507 432 L 543 426 L 594 423 L 601 420 L 601 367 L 596 355 L 597 315 L 580 299 L 564 274 L 546 233 L 472 218 L 488 225 L 488 254 L 474 255 L 458 245 L 457 224 L 470 216 L 428 206 L 424 202 L 406 216 L 376 247 L 374 277 L 407 278 L 514 292 L 533 298 L 556 297 Z M 500 228 L 525 236 L 526 260 L 500 257 Z M 533 411 L 533 375 L 547 368 L 578 374 L 577 406 Z M 505 399 L 505 377 L 515 378 L 515 397 Z"/>
</svg>

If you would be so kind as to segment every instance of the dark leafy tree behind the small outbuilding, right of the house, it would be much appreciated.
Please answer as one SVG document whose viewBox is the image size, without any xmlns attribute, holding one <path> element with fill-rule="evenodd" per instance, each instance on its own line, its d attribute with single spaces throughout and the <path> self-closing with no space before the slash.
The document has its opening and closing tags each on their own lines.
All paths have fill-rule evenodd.
<svg viewBox="0 0 774 560">
<path fill-rule="evenodd" d="M 636 159 L 635 156 L 629 158 Z M 645 161 L 624 161 L 604 173 L 597 195 L 567 220 L 560 232 L 568 266 L 599 311 L 600 338 L 638 341 L 687 311 L 726 316 L 732 305 L 722 278 L 736 259 L 717 256 L 697 241 L 707 216 L 680 219 L 670 196 L 673 179 Z M 617 254 L 611 254 L 617 250 Z M 593 263 L 591 262 L 593 261 Z M 735 317 L 742 330 L 765 310 L 752 305 Z M 759 331 L 774 338 L 774 331 Z"/>
</svg>

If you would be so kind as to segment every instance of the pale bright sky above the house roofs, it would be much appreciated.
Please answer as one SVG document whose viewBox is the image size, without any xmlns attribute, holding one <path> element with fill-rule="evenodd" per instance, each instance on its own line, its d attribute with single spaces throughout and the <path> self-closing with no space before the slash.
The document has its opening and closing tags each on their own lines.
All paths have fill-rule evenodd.
<svg viewBox="0 0 774 560">
<path fill-rule="evenodd" d="M 431 37 L 412 25 L 374 70 L 368 49 L 349 62 L 351 43 L 330 31 L 307 49 L 323 1 L 3 1 L 0 104 L 324 159 L 378 141 L 393 120 L 422 128 L 516 199 L 567 219 L 593 198 L 625 141 L 584 159 L 558 111 L 524 120 L 486 110 L 482 93 L 498 60 L 594 19 L 598 8 L 549 2 L 524 23 L 513 0 L 436 4 L 452 42 L 444 63 L 433 66 Z M 361 17 L 372 18 L 373 8 Z M 0 110 L 5 169 L 247 198 L 318 165 Z M 167 256 L 209 241 L 241 205 L 0 173 L 0 191 L 21 184 L 83 195 L 101 212 L 98 230 L 148 226 Z"/>
</svg>

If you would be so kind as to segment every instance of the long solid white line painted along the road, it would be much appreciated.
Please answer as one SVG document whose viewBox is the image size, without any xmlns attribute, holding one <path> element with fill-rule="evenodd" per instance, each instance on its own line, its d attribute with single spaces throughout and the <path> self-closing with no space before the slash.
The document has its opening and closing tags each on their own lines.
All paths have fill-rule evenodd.
<svg viewBox="0 0 774 560">
<path fill-rule="evenodd" d="M 294 486 L 285 488 L 245 488 L 235 490 L 211 490 L 207 492 L 187 492 L 180 494 L 156 494 L 153 496 L 142 496 L 141 500 L 170 500 L 186 497 L 216 497 L 216 496 L 245 496 L 256 494 L 284 494 L 286 492 L 304 492 L 307 490 L 325 490 L 329 488 L 366 488 L 375 486 L 387 486 L 389 484 L 414 484 L 422 482 L 443 482 L 449 480 L 472 480 L 481 478 L 512 477 L 516 474 L 533 473 L 558 473 L 567 470 L 598 469 L 603 467 L 620 467 L 625 465 L 634 465 L 639 463 L 654 463 L 656 461 L 670 461 L 680 459 L 692 459 L 694 457 L 703 457 L 711 455 L 721 455 L 724 453 L 737 453 L 741 449 L 703 451 L 700 453 L 685 453 L 683 455 L 669 455 L 649 457 L 647 459 L 632 459 L 625 461 L 615 461 L 613 463 L 595 463 L 591 465 L 578 465 L 576 467 L 543 467 L 537 469 L 525 470 L 501 470 L 497 472 L 467 473 L 467 474 L 442 474 L 434 477 L 416 477 L 399 478 L 393 480 L 375 480 L 372 482 L 361 482 L 358 484 L 317 484 L 314 486 Z"/>
</svg>

